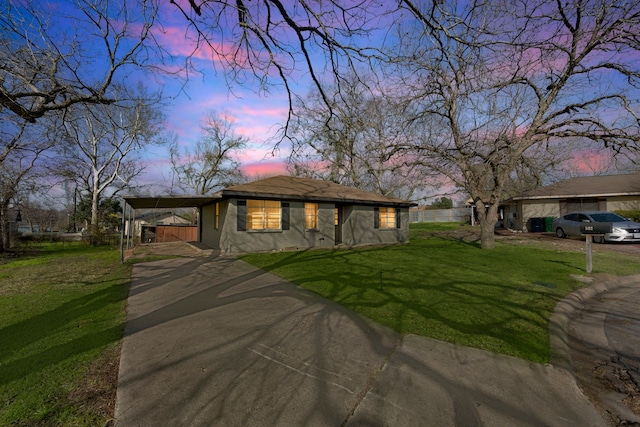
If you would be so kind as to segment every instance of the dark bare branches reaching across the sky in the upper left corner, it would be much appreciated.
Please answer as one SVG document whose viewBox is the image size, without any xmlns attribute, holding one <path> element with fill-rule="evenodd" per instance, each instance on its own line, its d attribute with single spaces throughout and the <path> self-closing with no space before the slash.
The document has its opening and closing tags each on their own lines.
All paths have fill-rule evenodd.
<svg viewBox="0 0 640 427">
<path fill-rule="evenodd" d="M 114 104 L 130 73 L 164 58 L 154 1 L 0 5 L 0 106 L 28 122 L 76 104 Z M 152 62 L 155 61 L 155 62 Z"/>
</svg>

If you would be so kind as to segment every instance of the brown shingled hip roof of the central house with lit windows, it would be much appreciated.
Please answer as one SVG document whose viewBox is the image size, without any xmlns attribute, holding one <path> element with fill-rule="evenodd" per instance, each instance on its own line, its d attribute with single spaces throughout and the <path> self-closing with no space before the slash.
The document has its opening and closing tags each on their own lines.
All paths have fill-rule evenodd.
<svg viewBox="0 0 640 427">
<path fill-rule="evenodd" d="M 415 206 L 413 202 L 329 181 L 283 175 L 225 188 L 219 194 L 222 198 L 258 197 L 383 206 Z"/>
</svg>

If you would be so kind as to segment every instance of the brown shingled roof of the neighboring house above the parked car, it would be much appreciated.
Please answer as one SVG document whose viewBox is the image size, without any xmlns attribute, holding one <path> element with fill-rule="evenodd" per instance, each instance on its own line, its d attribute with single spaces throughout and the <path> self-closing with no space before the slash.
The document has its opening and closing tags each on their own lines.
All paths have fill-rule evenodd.
<svg viewBox="0 0 640 427">
<path fill-rule="evenodd" d="M 640 196 L 640 173 L 571 178 L 515 196 L 512 200 Z"/>
</svg>

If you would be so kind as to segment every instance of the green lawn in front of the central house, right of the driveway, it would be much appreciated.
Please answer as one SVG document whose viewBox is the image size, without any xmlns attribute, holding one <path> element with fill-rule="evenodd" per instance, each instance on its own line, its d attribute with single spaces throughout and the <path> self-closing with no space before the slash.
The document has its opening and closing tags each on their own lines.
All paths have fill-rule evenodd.
<svg viewBox="0 0 640 427">
<path fill-rule="evenodd" d="M 265 253 L 242 259 L 400 333 L 546 363 L 549 318 L 581 283 L 579 252 L 497 242 L 482 250 L 458 224 L 418 224 L 411 243 Z M 615 262 L 612 262 L 615 259 Z M 640 273 L 637 257 L 594 254 L 594 273 Z"/>
</svg>

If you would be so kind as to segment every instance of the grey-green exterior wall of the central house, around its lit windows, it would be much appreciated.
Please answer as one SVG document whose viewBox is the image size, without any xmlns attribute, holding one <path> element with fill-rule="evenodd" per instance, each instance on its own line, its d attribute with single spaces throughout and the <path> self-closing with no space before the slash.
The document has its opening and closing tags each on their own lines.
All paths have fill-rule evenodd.
<svg viewBox="0 0 640 427">
<path fill-rule="evenodd" d="M 288 230 L 238 231 L 238 199 L 220 202 L 219 227 L 216 230 L 215 205 L 202 209 L 202 242 L 223 253 L 265 252 L 283 249 L 333 247 L 336 244 L 333 203 L 318 203 L 318 228 L 308 230 L 304 223 L 304 202 L 289 203 Z M 342 243 L 347 246 L 409 241 L 409 210 L 401 210 L 400 229 L 374 229 L 373 206 L 344 205 Z"/>
</svg>

